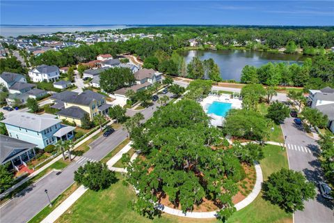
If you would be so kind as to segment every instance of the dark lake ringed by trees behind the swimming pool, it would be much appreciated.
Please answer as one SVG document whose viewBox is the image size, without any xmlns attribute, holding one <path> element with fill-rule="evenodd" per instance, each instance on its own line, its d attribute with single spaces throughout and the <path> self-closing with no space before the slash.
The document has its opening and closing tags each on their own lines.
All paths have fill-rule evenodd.
<svg viewBox="0 0 334 223">
<path fill-rule="evenodd" d="M 246 65 L 260 67 L 265 63 L 303 63 L 308 56 L 301 54 L 275 54 L 253 50 L 190 50 L 181 52 L 186 63 L 194 56 L 201 60 L 214 59 L 221 69 L 223 79 L 234 79 L 240 81 L 241 70 Z"/>
</svg>

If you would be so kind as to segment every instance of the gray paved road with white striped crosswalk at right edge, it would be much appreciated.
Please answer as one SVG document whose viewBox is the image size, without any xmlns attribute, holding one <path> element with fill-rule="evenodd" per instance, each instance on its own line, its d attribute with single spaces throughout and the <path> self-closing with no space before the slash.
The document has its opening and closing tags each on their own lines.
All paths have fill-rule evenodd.
<svg viewBox="0 0 334 223">
<path fill-rule="evenodd" d="M 301 171 L 312 182 L 323 180 L 320 164 L 317 160 L 319 148 L 315 139 L 308 137 L 305 132 L 294 124 L 294 118 L 285 119 L 282 125 L 290 169 Z M 334 203 L 321 197 L 317 189 L 315 200 L 305 202 L 305 209 L 294 214 L 296 223 L 334 222 Z"/>
</svg>

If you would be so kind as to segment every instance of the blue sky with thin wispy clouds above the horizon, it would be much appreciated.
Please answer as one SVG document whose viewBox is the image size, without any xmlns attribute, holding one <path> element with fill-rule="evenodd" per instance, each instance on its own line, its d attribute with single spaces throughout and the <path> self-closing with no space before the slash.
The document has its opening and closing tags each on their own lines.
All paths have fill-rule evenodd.
<svg viewBox="0 0 334 223">
<path fill-rule="evenodd" d="M 334 25 L 334 1 L 2 1 L 1 24 Z"/>
</svg>

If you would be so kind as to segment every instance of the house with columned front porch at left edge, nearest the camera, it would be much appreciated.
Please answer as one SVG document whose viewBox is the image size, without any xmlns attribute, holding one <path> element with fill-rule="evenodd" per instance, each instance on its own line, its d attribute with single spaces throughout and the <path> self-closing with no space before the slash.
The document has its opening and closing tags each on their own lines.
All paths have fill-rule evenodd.
<svg viewBox="0 0 334 223">
<path fill-rule="evenodd" d="M 0 134 L 0 164 L 10 163 L 10 167 L 19 170 L 35 157 L 37 145 Z"/>
</svg>

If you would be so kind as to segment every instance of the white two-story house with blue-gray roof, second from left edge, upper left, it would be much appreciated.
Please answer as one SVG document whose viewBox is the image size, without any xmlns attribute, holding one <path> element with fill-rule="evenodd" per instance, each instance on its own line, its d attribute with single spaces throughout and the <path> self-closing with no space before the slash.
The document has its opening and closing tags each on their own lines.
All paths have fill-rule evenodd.
<svg viewBox="0 0 334 223">
<path fill-rule="evenodd" d="M 33 82 L 55 82 L 59 79 L 60 71 L 57 66 L 40 65 L 29 70 L 29 77 Z"/>
</svg>

